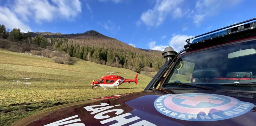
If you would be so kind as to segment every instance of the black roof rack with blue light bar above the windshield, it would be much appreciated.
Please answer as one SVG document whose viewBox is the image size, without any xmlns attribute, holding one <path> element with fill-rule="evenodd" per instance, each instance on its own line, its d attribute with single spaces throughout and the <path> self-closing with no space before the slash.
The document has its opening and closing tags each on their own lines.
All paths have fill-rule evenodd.
<svg viewBox="0 0 256 126">
<path fill-rule="evenodd" d="M 224 44 L 230 41 L 256 36 L 256 22 L 250 22 L 253 20 L 256 20 L 256 18 L 189 38 L 186 40 L 188 44 L 186 44 L 184 48 L 197 50 L 209 46 Z M 250 23 L 244 24 L 246 22 Z M 194 40 L 192 43 L 190 43 L 190 40 L 192 39 Z"/>
</svg>

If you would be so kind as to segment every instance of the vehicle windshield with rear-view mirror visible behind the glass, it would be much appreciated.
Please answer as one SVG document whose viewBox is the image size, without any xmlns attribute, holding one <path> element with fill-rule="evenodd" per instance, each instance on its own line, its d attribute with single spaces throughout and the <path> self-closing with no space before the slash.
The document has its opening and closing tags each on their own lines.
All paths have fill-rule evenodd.
<svg viewBox="0 0 256 126">
<path fill-rule="evenodd" d="M 256 83 L 255 49 L 256 41 L 251 40 L 185 54 L 179 58 L 162 87 L 189 83 L 217 89 L 256 91 L 252 86 Z M 244 83 L 247 85 L 242 85 Z"/>
</svg>

